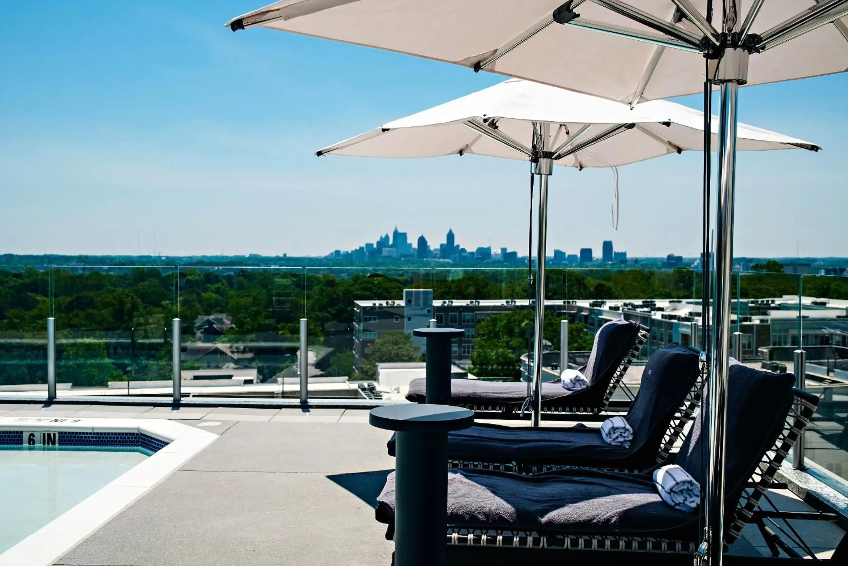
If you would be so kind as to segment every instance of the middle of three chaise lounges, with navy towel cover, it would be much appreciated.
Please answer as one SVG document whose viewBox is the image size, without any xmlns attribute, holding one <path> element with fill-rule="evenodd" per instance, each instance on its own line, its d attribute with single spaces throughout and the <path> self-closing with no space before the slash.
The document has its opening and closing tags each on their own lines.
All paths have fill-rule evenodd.
<svg viewBox="0 0 848 566">
<path fill-rule="evenodd" d="M 699 353 L 671 344 L 650 356 L 639 393 L 625 417 L 633 429 L 628 448 L 607 444 L 600 429 L 583 424 L 569 428 L 483 424 L 449 433 L 449 467 L 517 474 L 557 468 L 651 468 L 666 460 L 700 403 Z M 389 456 L 394 456 L 394 448 L 392 436 Z"/>
</svg>

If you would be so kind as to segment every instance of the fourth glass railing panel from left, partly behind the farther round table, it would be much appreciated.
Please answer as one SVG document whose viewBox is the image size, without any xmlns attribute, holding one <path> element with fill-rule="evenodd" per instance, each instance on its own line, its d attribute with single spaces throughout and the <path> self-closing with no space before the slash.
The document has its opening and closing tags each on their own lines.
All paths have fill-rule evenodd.
<svg viewBox="0 0 848 566">
<path fill-rule="evenodd" d="M 389 374 L 396 364 L 423 367 L 423 340 L 412 330 L 433 317 L 433 270 L 309 267 L 305 277 L 310 398 L 402 401 Z M 383 367 L 382 387 L 385 364 L 395 365 Z"/>
</svg>

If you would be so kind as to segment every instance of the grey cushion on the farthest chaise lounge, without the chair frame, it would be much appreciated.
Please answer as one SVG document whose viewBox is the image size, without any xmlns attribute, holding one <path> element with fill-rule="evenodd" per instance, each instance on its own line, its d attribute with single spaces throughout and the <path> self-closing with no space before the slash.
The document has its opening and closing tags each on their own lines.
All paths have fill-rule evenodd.
<svg viewBox="0 0 848 566">
<path fill-rule="evenodd" d="M 600 327 L 595 335 L 589 363 L 583 375 L 589 387 L 580 391 L 563 389 L 560 382 L 542 384 L 542 406 L 598 407 L 616 368 L 621 365 L 639 336 L 639 322 L 618 317 Z M 410 381 L 406 399 L 413 403 L 426 400 L 427 382 L 423 378 Z M 491 382 L 479 379 L 451 379 L 450 401 L 454 405 L 507 405 L 520 407 L 527 399 L 527 384 Z"/>
</svg>

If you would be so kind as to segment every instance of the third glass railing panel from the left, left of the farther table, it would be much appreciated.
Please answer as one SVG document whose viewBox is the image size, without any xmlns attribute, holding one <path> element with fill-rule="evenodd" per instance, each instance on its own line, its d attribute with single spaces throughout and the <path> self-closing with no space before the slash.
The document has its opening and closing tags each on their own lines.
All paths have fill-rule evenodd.
<svg viewBox="0 0 848 566">
<path fill-rule="evenodd" d="M 178 297 L 183 395 L 283 395 L 297 371 L 303 268 L 181 266 Z"/>
</svg>

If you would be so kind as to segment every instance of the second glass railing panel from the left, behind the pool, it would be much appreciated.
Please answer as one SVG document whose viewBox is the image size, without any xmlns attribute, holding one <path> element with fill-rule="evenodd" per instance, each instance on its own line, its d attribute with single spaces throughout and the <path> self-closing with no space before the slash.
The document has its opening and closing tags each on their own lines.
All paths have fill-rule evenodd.
<svg viewBox="0 0 848 566">
<path fill-rule="evenodd" d="M 176 268 L 54 266 L 52 273 L 57 395 L 170 395 Z"/>
</svg>

